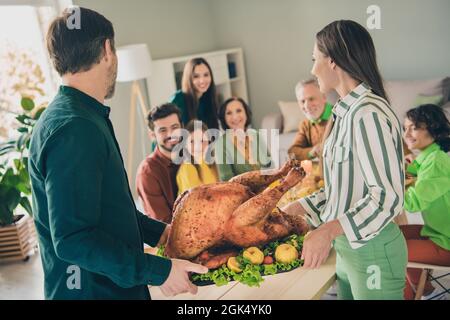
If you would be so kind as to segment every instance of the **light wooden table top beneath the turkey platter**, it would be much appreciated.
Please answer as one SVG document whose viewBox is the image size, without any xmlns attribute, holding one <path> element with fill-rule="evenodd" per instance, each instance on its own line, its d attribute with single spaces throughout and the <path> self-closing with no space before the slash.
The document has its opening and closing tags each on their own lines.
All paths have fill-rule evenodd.
<svg viewBox="0 0 450 320">
<path fill-rule="evenodd" d="M 336 280 L 336 252 L 317 269 L 299 267 L 289 272 L 265 276 L 259 287 L 233 281 L 224 286 L 199 286 L 190 293 L 166 297 L 158 287 L 150 287 L 153 300 L 318 300 Z"/>
</svg>

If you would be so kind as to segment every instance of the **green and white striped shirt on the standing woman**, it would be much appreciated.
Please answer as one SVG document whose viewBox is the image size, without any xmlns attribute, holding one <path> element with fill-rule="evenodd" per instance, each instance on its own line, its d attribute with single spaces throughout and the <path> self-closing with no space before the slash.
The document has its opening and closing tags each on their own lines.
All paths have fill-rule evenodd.
<svg viewBox="0 0 450 320">
<path fill-rule="evenodd" d="M 323 151 L 325 188 L 299 201 L 315 227 L 338 219 L 356 249 L 403 208 L 402 126 L 364 83 L 339 100 L 333 114 Z"/>
</svg>

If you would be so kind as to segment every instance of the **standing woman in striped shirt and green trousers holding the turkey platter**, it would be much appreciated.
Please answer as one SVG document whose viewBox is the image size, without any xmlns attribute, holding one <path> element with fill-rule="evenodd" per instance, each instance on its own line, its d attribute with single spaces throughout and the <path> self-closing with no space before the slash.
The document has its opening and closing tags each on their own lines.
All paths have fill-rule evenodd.
<svg viewBox="0 0 450 320">
<path fill-rule="evenodd" d="M 340 99 L 325 131 L 325 187 L 288 205 L 315 228 L 305 239 L 305 267 L 334 245 L 340 299 L 402 299 L 407 249 L 393 223 L 403 207 L 401 124 L 389 106 L 372 38 L 341 20 L 316 35 L 312 74 Z"/>
</svg>

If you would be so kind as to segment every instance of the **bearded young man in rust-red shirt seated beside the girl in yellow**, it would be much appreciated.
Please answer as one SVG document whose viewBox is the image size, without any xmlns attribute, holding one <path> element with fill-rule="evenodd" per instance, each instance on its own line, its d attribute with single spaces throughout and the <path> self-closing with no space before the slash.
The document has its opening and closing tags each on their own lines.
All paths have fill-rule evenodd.
<svg viewBox="0 0 450 320">
<path fill-rule="evenodd" d="M 178 194 L 176 176 L 179 165 L 173 162 L 173 150 L 180 142 L 181 112 L 172 103 L 150 110 L 149 135 L 156 140 L 155 151 L 142 161 L 136 175 L 136 188 L 144 211 L 150 217 L 171 223 Z"/>
</svg>

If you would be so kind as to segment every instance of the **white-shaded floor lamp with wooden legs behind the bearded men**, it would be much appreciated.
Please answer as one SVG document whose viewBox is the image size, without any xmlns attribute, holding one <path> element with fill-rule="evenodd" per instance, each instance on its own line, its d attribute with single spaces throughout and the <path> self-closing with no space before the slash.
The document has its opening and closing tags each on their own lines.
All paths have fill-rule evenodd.
<svg viewBox="0 0 450 320">
<path fill-rule="evenodd" d="M 136 138 L 136 109 L 138 108 L 136 102 L 138 102 L 144 122 L 148 112 L 144 95 L 139 86 L 139 80 L 145 81 L 145 79 L 150 77 L 152 60 L 146 44 L 119 47 L 117 48 L 117 58 L 119 63 L 117 81 L 132 82 L 127 157 L 127 173 L 131 179 Z"/>
</svg>

